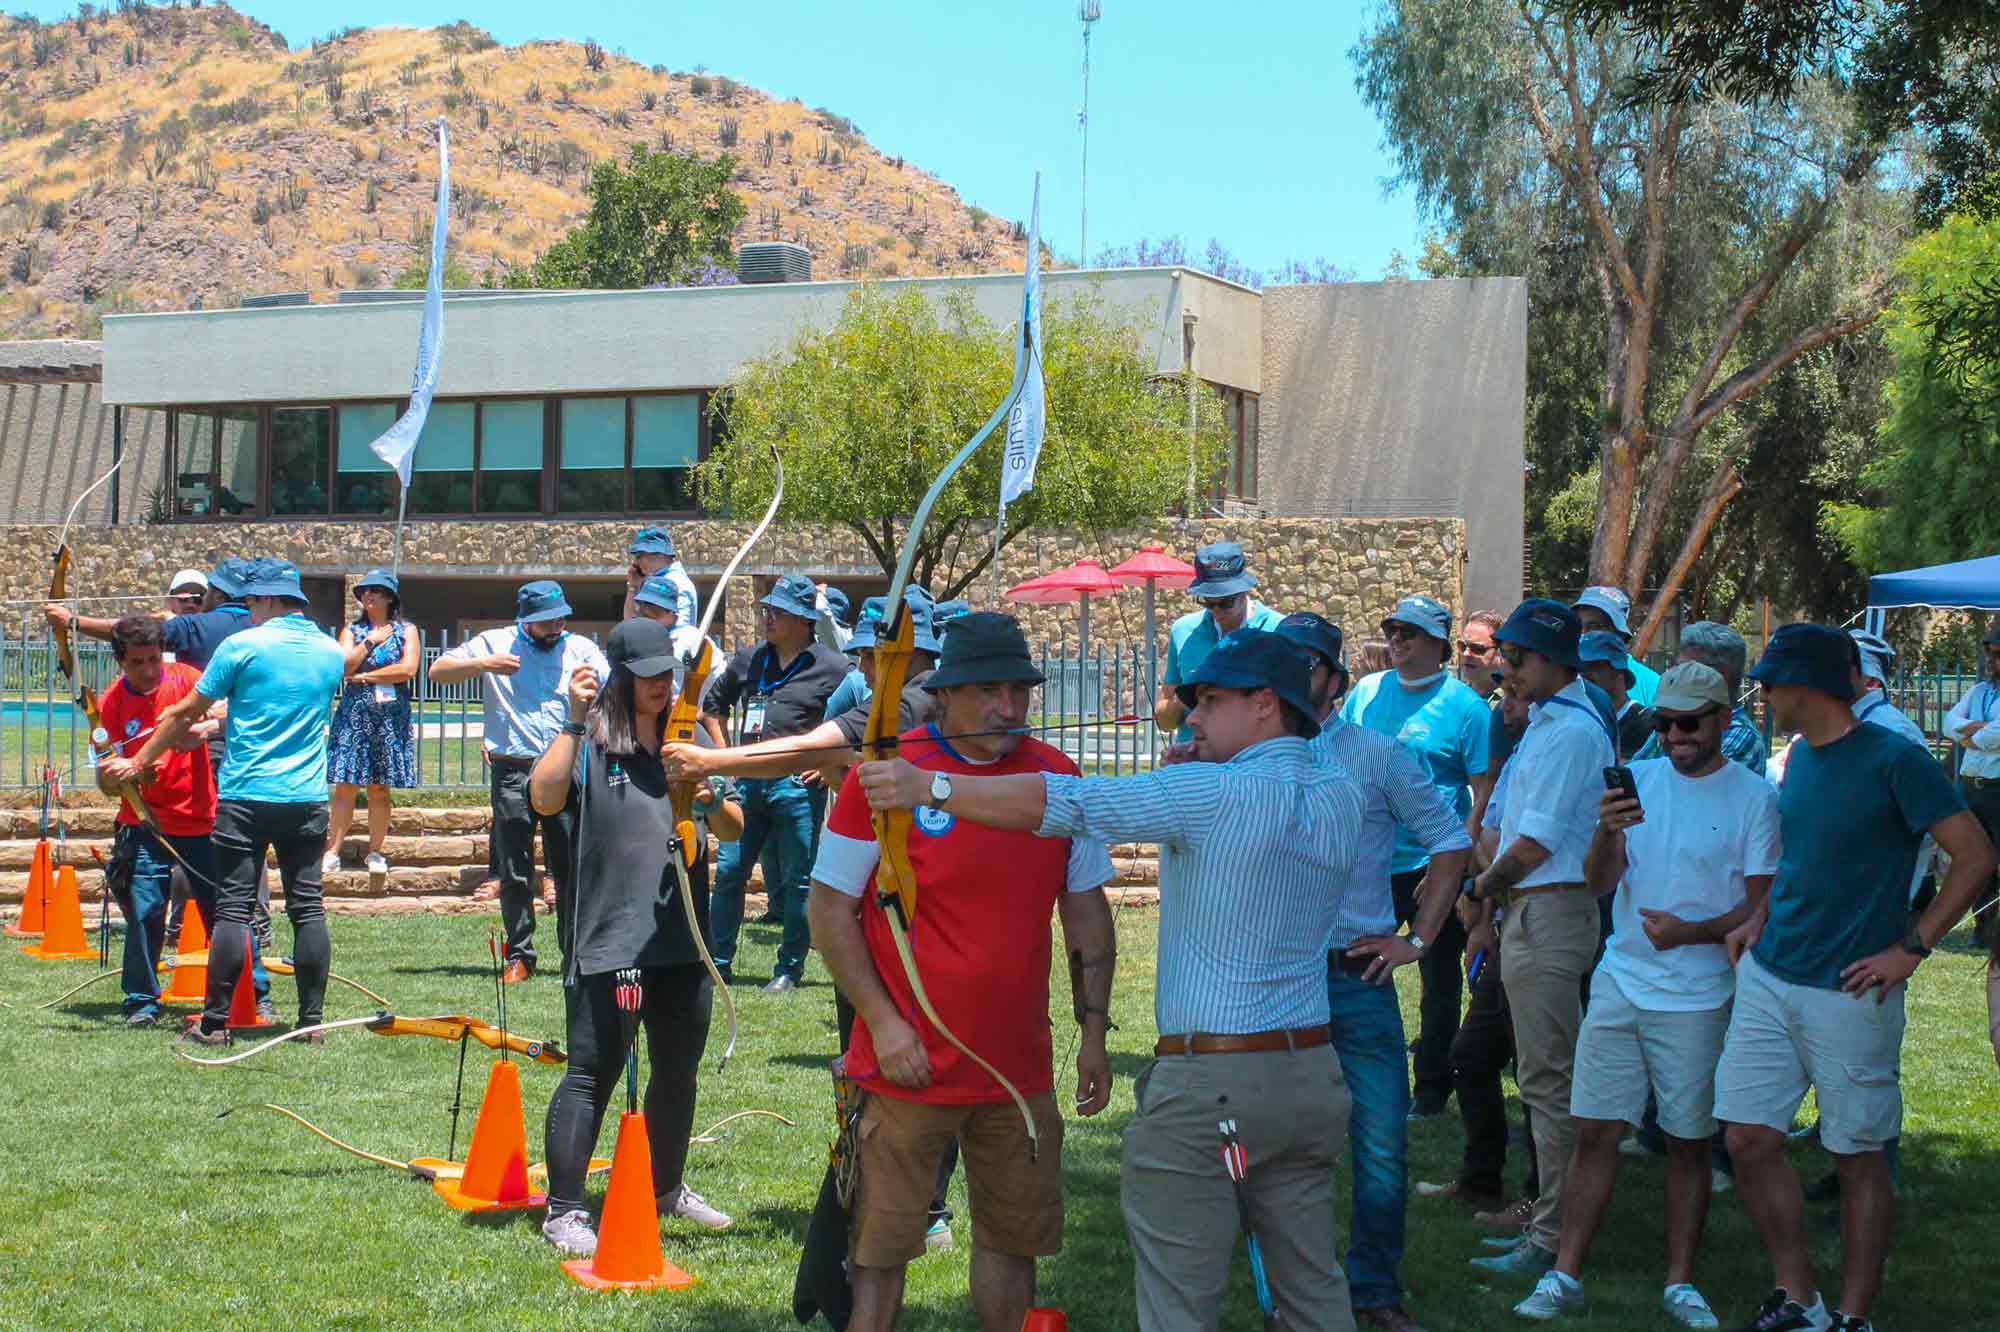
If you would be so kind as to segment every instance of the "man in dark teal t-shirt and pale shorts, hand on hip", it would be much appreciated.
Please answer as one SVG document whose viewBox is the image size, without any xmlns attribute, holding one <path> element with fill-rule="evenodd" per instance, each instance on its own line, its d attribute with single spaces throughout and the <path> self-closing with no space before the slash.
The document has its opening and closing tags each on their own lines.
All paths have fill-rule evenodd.
<svg viewBox="0 0 2000 1332">
<path fill-rule="evenodd" d="M 1778 728 L 1800 734 L 1778 800 L 1778 876 L 1726 940 L 1742 960 L 1716 1066 L 1716 1118 L 1776 1276 L 1758 1328 L 1870 1326 L 1896 1206 L 1884 1148 L 1902 1132 L 1904 982 L 1994 870 L 1994 846 L 1944 768 L 1854 718 L 1856 664 L 1840 630 L 1786 624 L 1750 672 Z M 1952 868 L 1912 918 L 1926 832 Z M 1844 1284 L 1832 1308 L 1814 1288 L 1798 1174 L 1784 1156 L 1806 1088 L 1840 1168 Z"/>
</svg>

